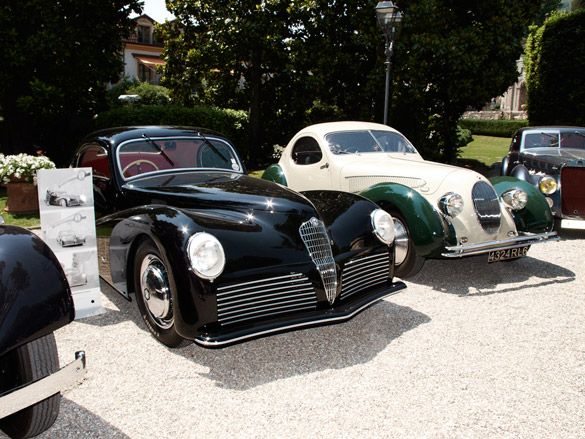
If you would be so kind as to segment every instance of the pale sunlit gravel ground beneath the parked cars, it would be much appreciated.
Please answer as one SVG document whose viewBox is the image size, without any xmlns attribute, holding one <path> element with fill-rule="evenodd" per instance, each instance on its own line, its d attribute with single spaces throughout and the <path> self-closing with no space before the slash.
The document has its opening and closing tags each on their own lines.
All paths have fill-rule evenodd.
<svg viewBox="0 0 585 439">
<path fill-rule="evenodd" d="M 429 261 L 347 323 L 221 350 L 167 349 L 106 294 L 56 333 L 88 373 L 39 437 L 585 437 L 584 239 Z"/>
</svg>

